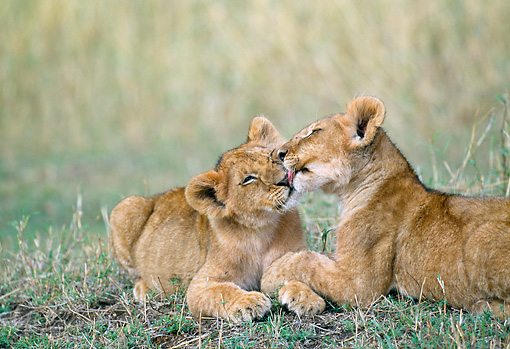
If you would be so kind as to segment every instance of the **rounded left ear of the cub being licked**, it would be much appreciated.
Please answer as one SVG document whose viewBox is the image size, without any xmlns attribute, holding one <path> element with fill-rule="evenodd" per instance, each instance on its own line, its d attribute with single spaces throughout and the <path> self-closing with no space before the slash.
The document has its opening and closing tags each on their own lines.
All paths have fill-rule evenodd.
<svg viewBox="0 0 510 349">
<path fill-rule="evenodd" d="M 212 170 L 191 178 L 185 191 L 186 200 L 191 207 L 206 216 L 224 216 L 225 204 L 218 200 L 216 193 L 219 181 L 219 173 Z"/>
</svg>

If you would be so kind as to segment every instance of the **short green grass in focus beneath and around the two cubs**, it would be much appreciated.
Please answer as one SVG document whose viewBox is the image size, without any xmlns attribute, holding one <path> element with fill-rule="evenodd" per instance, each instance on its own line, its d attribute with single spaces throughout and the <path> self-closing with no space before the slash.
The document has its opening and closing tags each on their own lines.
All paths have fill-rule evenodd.
<svg viewBox="0 0 510 349">
<path fill-rule="evenodd" d="M 443 178 L 443 188 L 468 188 L 472 194 L 508 191 L 508 111 L 506 99 L 502 101 L 503 108 L 475 124 L 458 169 L 453 171 L 443 159 L 444 170 L 437 168 L 449 176 Z M 477 177 L 464 177 L 465 167 L 476 167 L 474 159 L 485 142 L 493 146 L 494 167 Z M 443 155 L 434 150 L 433 156 Z M 311 193 L 300 210 L 309 246 L 324 253 L 333 251 L 330 228 L 341 212 L 335 199 Z M 103 217 L 107 214 L 103 210 Z M 309 318 L 300 318 L 273 300 L 271 312 L 263 319 L 241 325 L 193 318 L 185 289 L 163 300 L 153 294 L 142 305 L 134 300 L 132 283 L 112 260 L 104 233 L 91 234 L 82 218 L 82 198 L 78 197 L 69 228 L 50 230 L 49 237 L 36 238 L 32 247 L 24 236 L 30 218 L 14 224 L 18 249 L 0 254 L 0 347 L 510 347 L 508 320 L 495 320 L 489 313 L 472 316 L 446 302 L 396 293 L 381 297 L 368 309 L 328 304 L 324 313 Z"/>
</svg>

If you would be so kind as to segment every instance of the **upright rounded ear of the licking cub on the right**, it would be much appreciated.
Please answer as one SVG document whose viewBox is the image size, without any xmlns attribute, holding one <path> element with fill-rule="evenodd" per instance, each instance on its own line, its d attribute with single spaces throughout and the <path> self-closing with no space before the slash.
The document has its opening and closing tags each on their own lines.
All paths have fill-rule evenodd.
<svg viewBox="0 0 510 349">
<path fill-rule="evenodd" d="M 352 100 L 344 115 L 352 145 L 358 147 L 371 143 L 385 115 L 386 108 L 379 98 L 358 97 Z"/>
</svg>

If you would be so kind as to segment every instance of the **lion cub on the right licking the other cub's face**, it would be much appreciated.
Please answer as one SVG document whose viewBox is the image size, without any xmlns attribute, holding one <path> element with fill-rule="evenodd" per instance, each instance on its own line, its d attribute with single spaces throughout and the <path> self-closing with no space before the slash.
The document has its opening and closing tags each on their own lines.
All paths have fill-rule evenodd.
<svg viewBox="0 0 510 349">
<path fill-rule="evenodd" d="M 298 192 L 337 194 L 343 212 L 334 259 L 289 253 L 262 290 L 300 281 L 338 304 L 368 305 L 395 289 L 509 317 L 510 200 L 426 188 L 380 128 L 384 116 L 377 98 L 356 98 L 274 152 Z"/>
</svg>

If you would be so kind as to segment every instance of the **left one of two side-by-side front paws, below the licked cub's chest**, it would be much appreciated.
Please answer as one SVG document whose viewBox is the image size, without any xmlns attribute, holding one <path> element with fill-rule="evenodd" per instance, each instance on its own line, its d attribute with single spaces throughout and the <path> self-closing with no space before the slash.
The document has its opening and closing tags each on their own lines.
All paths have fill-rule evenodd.
<svg viewBox="0 0 510 349">
<path fill-rule="evenodd" d="M 225 303 L 227 318 L 233 322 L 252 321 L 264 316 L 271 309 L 271 301 L 263 293 L 245 292 Z"/>
</svg>

